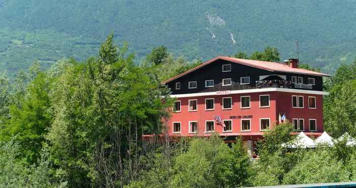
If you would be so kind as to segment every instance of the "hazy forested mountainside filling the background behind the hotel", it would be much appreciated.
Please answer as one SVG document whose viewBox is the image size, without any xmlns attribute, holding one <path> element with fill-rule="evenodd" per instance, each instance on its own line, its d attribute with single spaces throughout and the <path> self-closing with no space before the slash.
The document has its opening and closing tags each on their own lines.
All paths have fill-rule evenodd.
<svg viewBox="0 0 356 188">
<path fill-rule="evenodd" d="M 114 32 L 138 56 L 165 45 L 175 55 L 207 60 L 265 46 L 333 73 L 356 54 L 354 0 L 94 1 L 0 0 L 0 69 L 10 74 L 34 60 L 96 55 Z"/>
</svg>

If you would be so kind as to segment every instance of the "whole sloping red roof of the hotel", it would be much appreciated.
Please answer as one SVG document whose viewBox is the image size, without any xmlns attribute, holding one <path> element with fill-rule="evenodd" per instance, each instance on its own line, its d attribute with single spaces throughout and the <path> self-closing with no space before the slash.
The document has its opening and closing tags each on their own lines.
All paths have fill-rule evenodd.
<svg viewBox="0 0 356 188">
<path fill-rule="evenodd" d="M 219 57 L 215 57 L 209 61 L 204 62 L 203 64 L 188 70 L 182 74 L 179 74 L 177 76 L 174 76 L 166 81 L 164 81 L 163 83 L 168 83 L 176 78 L 179 78 L 181 76 L 184 76 L 190 72 L 193 72 L 205 65 L 211 64 L 212 62 L 215 62 L 218 59 L 223 59 L 223 60 L 227 60 L 227 61 L 231 61 L 231 62 L 235 62 L 237 64 L 242 64 L 242 65 L 246 65 L 246 66 L 250 66 L 250 67 L 255 67 L 258 69 L 263 69 L 263 70 L 267 70 L 267 71 L 271 71 L 271 72 L 284 72 L 284 73 L 295 73 L 295 74 L 306 74 L 306 75 L 313 75 L 313 76 L 330 76 L 327 74 L 323 74 L 323 73 L 318 73 L 315 71 L 309 71 L 306 69 L 298 69 L 298 68 L 290 68 L 288 65 L 284 65 L 281 64 L 279 62 L 269 62 L 269 61 L 260 61 L 260 60 L 250 60 L 250 59 L 239 59 L 239 58 L 233 58 L 233 57 L 224 57 L 224 56 L 219 56 Z"/>
</svg>

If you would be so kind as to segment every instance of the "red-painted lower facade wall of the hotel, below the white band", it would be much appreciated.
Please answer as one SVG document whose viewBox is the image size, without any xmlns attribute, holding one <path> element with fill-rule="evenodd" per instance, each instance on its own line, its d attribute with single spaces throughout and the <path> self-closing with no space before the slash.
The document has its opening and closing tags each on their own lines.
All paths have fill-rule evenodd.
<svg viewBox="0 0 356 188">
<path fill-rule="evenodd" d="M 259 107 L 259 95 L 270 95 L 270 107 Z M 304 108 L 292 107 L 292 95 L 304 96 Z M 249 109 L 241 109 L 241 96 L 250 96 L 251 104 Z M 316 97 L 316 109 L 308 108 L 308 97 Z M 222 109 L 222 98 L 232 97 L 232 109 Z M 205 110 L 205 99 L 214 98 L 214 110 Z M 321 95 L 308 95 L 299 93 L 287 93 L 287 92 L 262 92 L 262 93 L 243 93 L 233 95 L 215 95 L 215 96 L 203 96 L 203 97 L 187 97 L 179 98 L 181 101 L 181 112 L 173 112 L 171 118 L 167 120 L 166 126 L 168 127 L 169 136 L 208 136 L 211 133 L 204 133 L 205 121 L 214 120 L 213 115 L 219 115 L 222 120 L 232 120 L 232 132 L 223 132 L 223 127 L 215 121 L 215 132 L 218 132 L 222 136 L 258 136 L 262 135 L 263 131 L 260 131 L 260 118 L 270 118 L 271 128 L 273 124 L 278 121 L 279 113 L 286 113 L 286 117 L 291 121 L 292 118 L 304 118 L 305 119 L 305 132 L 309 131 L 309 119 L 316 119 L 317 132 L 322 133 L 322 96 Z M 197 111 L 188 111 L 188 100 L 197 99 Z M 251 131 L 241 132 L 241 119 L 244 118 L 230 118 L 230 116 L 249 116 L 251 119 Z M 198 121 L 198 133 L 191 134 L 189 132 L 189 121 Z M 181 122 L 181 133 L 173 134 L 173 122 Z"/>
</svg>

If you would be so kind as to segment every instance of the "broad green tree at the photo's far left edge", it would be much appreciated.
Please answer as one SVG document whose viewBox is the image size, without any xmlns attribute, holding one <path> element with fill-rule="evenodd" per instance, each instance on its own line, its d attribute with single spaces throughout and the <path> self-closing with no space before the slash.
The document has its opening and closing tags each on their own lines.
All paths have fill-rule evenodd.
<svg viewBox="0 0 356 188">
<path fill-rule="evenodd" d="M 42 148 L 44 135 L 52 122 L 51 100 L 49 90 L 51 81 L 45 73 L 38 73 L 28 84 L 25 97 L 18 98 L 20 105 L 10 106 L 10 119 L 1 130 L 1 139 L 9 141 L 18 135 L 21 143 L 21 154 L 30 163 L 36 162 Z"/>
</svg>

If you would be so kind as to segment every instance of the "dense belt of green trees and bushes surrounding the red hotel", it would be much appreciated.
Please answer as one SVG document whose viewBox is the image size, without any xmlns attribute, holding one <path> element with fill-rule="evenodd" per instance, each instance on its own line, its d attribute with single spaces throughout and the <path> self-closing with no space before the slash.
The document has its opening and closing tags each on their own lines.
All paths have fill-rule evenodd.
<svg viewBox="0 0 356 188">
<path fill-rule="evenodd" d="M 141 61 L 109 35 L 96 57 L 35 62 L 0 76 L 1 187 L 236 187 L 356 180 L 356 148 L 288 149 L 289 122 L 258 141 L 250 161 L 240 138 L 217 134 L 170 143 L 164 129 L 174 99 L 162 81 L 201 64 L 155 47 Z M 233 54 L 231 54 L 233 56 Z M 248 56 L 280 59 L 266 47 Z M 46 65 L 47 66 L 47 65 Z M 303 68 L 312 69 L 309 65 Z M 356 62 L 325 80 L 324 128 L 356 137 Z M 156 135 L 143 141 L 141 135 Z"/>
</svg>

